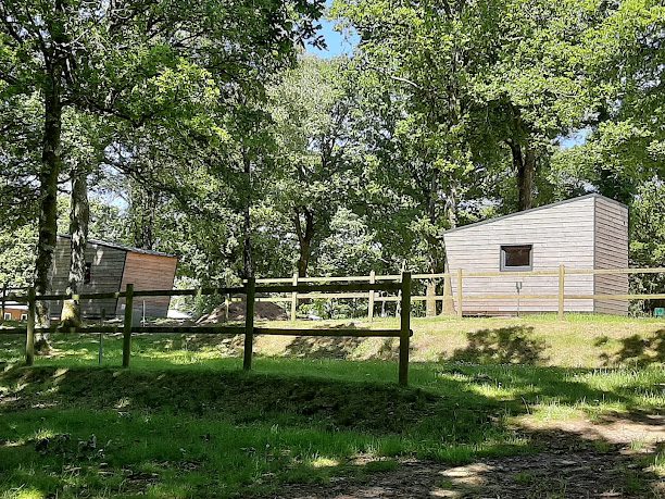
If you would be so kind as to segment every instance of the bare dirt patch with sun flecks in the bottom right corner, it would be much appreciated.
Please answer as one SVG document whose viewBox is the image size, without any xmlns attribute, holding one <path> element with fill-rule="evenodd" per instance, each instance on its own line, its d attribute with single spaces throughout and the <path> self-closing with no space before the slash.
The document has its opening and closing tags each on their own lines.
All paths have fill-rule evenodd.
<svg viewBox="0 0 665 499">
<path fill-rule="evenodd" d="M 620 440 L 620 435 L 617 431 L 612 436 Z M 603 440 L 599 446 L 565 432 L 543 432 L 531 438 L 540 451 L 528 456 L 462 466 L 402 460 L 394 471 L 363 479 L 344 475 L 327 485 L 286 485 L 265 499 L 665 498 L 665 481 L 623 444 Z"/>
</svg>

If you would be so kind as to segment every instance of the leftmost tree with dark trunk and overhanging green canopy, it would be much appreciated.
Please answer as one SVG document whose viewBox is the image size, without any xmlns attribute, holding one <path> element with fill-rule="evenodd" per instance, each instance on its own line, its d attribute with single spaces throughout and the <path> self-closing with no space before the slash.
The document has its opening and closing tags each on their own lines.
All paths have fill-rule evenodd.
<svg viewBox="0 0 665 499">
<path fill-rule="evenodd" d="M 134 126 L 168 115 L 179 102 L 165 98 L 177 89 L 168 78 L 187 66 L 184 61 L 209 68 L 214 85 L 227 93 L 252 88 L 262 72 L 292 60 L 293 45 L 313 34 L 321 8 L 319 0 L 0 4 L 3 98 L 36 96 L 43 112 L 35 275 L 39 294 L 50 288 L 63 112 L 75 108 Z M 46 302 L 39 302 L 38 312 L 47 322 Z"/>
</svg>

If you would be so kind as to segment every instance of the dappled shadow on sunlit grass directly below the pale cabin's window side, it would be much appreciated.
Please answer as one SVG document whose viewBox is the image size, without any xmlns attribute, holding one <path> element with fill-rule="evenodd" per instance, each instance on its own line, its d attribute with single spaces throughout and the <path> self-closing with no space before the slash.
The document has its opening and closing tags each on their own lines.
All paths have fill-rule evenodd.
<svg viewBox="0 0 665 499">
<path fill-rule="evenodd" d="M 525 326 L 481 329 L 468 333 L 468 345 L 456 349 L 451 361 L 479 364 L 540 364 L 547 361 L 542 354 L 547 344 L 532 336 L 534 328 Z"/>
</svg>

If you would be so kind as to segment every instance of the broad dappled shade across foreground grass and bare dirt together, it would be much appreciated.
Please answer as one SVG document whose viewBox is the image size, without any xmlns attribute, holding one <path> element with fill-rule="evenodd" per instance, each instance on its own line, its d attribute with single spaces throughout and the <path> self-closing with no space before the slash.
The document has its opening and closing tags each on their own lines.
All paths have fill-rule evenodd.
<svg viewBox="0 0 665 499">
<path fill-rule="evenodd" d="M 7 423 L 0 425 L 0 472 L 7 473 L 0 495 L 2 487 L 47 487 L 43 496 L 54 497 L 65 479 L 45 477 L 65 469 L 79 474 L 78 485 L 66 485 L 74 496 L 163 498 L 174 490 L 229 495 L 238 479 L 242 497 L 263 494 L 266 484 L 279 488 L 262 497 L 598 497 L 611 490 L 648 497 L 655 481 L 625 445 L 608 441 L 606 427 L 509 424 L 506 415 L 528 417 L 547 398 L 570 408 L 582 400 L 639 406 L 637 387 L 602 390 L 585 377 L 591 371 L 429 364 L 434 372 L 425 375 L 415 363 L 412 376 L 426 376 L 425 390 L 385 383 L 380 370 L 373 378 L 381 383 L 331 381 L 286 374 L 302 361 L 260 362 L 275 362 L 279 374 L 57 366 L 0 373 Z M 343 365 L 352 379 L 366 364 L 325 365 Z M 14 471 L 25 463 L 36 471 Z M 178 489 L 189 476 L 202 485 Z"/>
</svg>

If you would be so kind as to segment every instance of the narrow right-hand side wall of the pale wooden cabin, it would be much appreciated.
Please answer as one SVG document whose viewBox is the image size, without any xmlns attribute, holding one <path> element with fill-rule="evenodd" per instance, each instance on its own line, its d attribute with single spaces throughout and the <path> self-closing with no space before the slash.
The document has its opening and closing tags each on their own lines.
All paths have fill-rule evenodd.
<svg viewBox="0 0 665 499">
<path fill-rule="evenodd" d="M 595 198 L 595 269 L 628 267 L 628 209 Z M 627 295 L 627 275 L 597 275 L 595 295 Z M 595 300 L 595 312 L 628 314 L 627 300 Z"/>
</svg>

